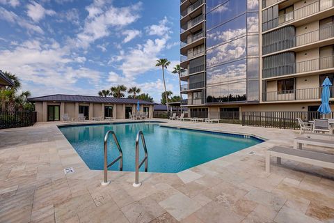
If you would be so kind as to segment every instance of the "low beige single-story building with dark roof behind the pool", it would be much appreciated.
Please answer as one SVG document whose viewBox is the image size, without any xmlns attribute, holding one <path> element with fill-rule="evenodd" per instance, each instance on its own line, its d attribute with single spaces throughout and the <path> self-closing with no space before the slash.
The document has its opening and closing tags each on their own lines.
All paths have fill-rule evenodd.
<svg viewBox="0 0 334 223">
<path fill-rule="evenodd" d="M 93 117 L 112 117 L 114 119 L 129 118 L 129 113 L 137 111 L 139 102 L 140 111 L 153 116 L 153 102 L 137 100 L 132 98 L 111 98 L 87 95 L 47 95 L 36 98 L 29 98 L 35 102 L 37 121 L 61 121 L 63 114 L 68 114 L 72 119 L 77 120 L 78 114 L 84 114 L 86 119 L 93 120 Z"/>
</svg>

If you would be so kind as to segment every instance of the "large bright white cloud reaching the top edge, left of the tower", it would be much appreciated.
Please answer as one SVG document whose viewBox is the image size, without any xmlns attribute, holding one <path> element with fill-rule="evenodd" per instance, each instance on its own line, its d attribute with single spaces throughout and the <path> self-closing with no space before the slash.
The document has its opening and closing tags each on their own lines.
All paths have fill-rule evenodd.
<svg viewBox="0 0 334 223">
<path fill-rule="evenodd" d="M 138 11 L 141 10 L 141 2 L 122 8 L 109 6 L 106 10 L 98 8 L 101 7 L 101 4 L 102 1 L 95 1 L 92 6 L 88 6 L 88 13 L 90 14 L 86 18 L 84 31 L 77 35 L 76 43 L 78 47 L 86 48 L 95 40 L 109 36 L 111 26 L 114 28 L 127 26 L 140 17 Z M 95 9 L 90 9 L 90 7 Z"/>
</svg>

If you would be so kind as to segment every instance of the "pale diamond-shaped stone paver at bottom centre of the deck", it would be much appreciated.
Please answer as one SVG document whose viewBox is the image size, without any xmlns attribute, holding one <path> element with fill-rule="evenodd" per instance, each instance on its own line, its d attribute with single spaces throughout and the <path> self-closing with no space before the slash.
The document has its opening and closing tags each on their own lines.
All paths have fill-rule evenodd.
<svg viewBox="0 0 334 223">
<path fill-rule="evenodd" d="M 193 201 L 182 193 L 173 194 L 168 199 L 159 202 L 159 205 L 178 221 L 191 215 L 201 207 L 200 203 Z"/>
</svg>

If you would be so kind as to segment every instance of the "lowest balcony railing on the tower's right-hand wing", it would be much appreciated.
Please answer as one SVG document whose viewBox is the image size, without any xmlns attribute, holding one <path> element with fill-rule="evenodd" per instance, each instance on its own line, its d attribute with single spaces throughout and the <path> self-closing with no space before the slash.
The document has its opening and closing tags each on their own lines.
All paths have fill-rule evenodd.
<svg viewBox="0 0 334 223">
<path fill-rule="evenodd" d="M 334 87 L 331 86 L 331 98 L 334 97 Z M 289 91 L 270 91 L 262 93 L 265 102 L 289 100 L 315 100 L 321 98 L 322 87 L 312 89 L 294 89 Z"/>
</svg>

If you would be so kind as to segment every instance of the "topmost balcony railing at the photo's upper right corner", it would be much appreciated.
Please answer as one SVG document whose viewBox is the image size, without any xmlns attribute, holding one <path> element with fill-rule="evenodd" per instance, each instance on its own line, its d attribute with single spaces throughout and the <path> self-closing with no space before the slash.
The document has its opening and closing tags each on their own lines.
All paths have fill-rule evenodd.
<svg viewBox="0 0 334 223">
<path fill-rule="evenodd" d="M 318 13 L 319 11 L 326 10 L 333 7 L 333 0 L 321 0 L 310 3 L 307 6 L 303 6 L 292 12 L 285 13 L 278 17 L 278 24 L 283 24 L 285 22 L 291 22 L 293 20 L 299 20 L 303 17 L 308 17 L 309 15 Z"/>
</svg>

